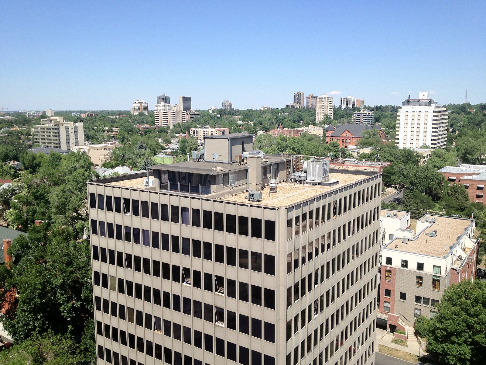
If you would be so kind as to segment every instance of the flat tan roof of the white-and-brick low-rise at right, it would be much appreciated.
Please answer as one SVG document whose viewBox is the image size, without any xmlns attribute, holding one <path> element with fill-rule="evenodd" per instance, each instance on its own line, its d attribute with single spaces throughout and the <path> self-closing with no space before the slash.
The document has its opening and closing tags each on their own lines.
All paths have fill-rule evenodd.
<svg viewBox="0 0 486 365">
<path fill-rule="evenodd" d="M 449 255 L 451 248 L 461 239 L 468 228 L 474 224 L 473 219 L 428 214 L 418 219 L 418 222 L 426 224 L 427 227 L 417 232 L 413 240 L 409 239 L 407 243 L 404 243 L 401 238 L 395 238 L 384 248 L 420 255 L 446 257 Z M 436 236 L 429 236 L 429 233 L 434 231 L 436 231 Z"/>
</svg>

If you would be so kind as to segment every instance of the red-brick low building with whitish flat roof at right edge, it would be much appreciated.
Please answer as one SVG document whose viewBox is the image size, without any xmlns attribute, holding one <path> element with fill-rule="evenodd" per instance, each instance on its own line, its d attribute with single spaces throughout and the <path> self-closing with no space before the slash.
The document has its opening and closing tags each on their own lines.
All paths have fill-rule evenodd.
<svg viewBox="0 0 486 365">
<path fill-rule="evenodd" d="M 485 203 L 486 165 L 461 164 L 460 166 L 442 167 L 440 172 L 449 184 L 462 184 L 466 188 L 469 200 Z"/>
</svg>

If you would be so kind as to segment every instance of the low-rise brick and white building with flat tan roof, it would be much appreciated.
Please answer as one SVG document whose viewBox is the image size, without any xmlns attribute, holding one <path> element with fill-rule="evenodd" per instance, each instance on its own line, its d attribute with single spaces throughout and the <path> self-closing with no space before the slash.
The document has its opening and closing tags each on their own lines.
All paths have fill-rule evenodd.
<svg viewBox="0 0 486 365">
<path fill-rule="evenodd" d="M 446 288 L 474 279 L 478 250 L 478 240 L 473 237 L 475 221 L 426 214 L 417 220 L 414 234 L 400 225 L 402 219 L 409 219 L 406 213 L 383 210 L 381 215 L 382 224 L 389 227 L 382 231 L 382 239 L 388 242 L 382 246 L 378 316 L 387 321 L 391 331 L 406 330 L 420 315 L 434 317 L 434 305 Z"/>
</svg>

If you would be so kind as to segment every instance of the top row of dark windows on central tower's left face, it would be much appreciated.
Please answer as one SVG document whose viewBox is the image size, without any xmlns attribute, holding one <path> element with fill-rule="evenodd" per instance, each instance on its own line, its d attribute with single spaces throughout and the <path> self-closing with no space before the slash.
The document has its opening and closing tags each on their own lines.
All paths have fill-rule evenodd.
<svg viewBox="0 0 486 365">
<path fill-rule="evenodd" d="M 156 202 L 139 201 L 137 199 L 104 196 L 102 194 L 89 193 L 89 206 L 100 210 L 115 213 L 130 214 L 172 223 L 181 223 L 193 227 L 203 227 L 216 231 L 234 233 L 239 235 L 264 238 L 271 241 L 276 239 L 275 220 L 249 218 L 189 208 L 178 205 L 169 205 Z M 262 236 L 263 234 L 263 236 Z"/>
</svg>

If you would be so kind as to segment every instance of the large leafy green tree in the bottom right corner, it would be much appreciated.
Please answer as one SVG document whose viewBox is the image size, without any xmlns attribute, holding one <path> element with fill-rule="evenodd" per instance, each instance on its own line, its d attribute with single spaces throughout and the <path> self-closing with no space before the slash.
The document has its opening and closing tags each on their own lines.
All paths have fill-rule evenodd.
<svg viewBox="0 0 486 365">
<path fill-rule="evenodd" d="M 430 320 L 427 351 L 451 365 L 486 364 L 486 283 L 451 285 Z"/>
</svg>

